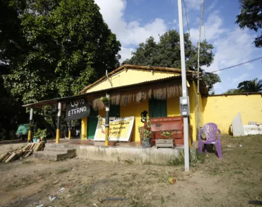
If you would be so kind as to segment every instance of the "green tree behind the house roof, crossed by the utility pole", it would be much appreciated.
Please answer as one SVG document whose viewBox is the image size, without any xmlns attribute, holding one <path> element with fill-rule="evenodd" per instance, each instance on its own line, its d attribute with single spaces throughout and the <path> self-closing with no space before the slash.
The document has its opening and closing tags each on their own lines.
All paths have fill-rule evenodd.
<svg viewBox="0 0 262 207">
<path fill-rule="evenodd" d="M 201 42 L 200 66 L 210 66 L 214 59 L 212 49 L 213 46 L 207 41 Z M 154 37 L 149 37 L 145 43 L 139 44 L 137 51 L 132 52 L 131 59 L 125 60 L 124 63 L 181 68 L 179 33 L 175 30 L 165 32 L 160 36 L 159 43 L 154 41 Z M 188 34 L 185 34 L 185 65 L 188 70 L 197 68 L 197 48 L 192 45 Z M 209 72 L 203 75 L 203 79 L 209 91 L 213 89 L 214 83 L 221 82 L 219 75 Z"/>
</svg>

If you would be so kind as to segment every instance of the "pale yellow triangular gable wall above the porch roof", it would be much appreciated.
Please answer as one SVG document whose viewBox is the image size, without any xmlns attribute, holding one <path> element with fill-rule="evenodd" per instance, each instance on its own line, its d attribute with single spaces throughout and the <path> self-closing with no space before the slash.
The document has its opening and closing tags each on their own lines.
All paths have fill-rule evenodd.
<svg viewBox="0 0 262 207">
<path fill-rule="evenodd" d="M 87 92 L 94 92 L 98 90 L 105 90 L 110 88 L 116 88 L 121 86 L 128 86 L 130 84 L 141 83 L 144 81 L 154 81 L 157 79 L 163 79 L 167 77 L 174 77 L 179 74 L 177 73 L 168 73 L 168 72 L 151 72 L 150 70 L 122 70 L 121 72 L 117 73 L 110 77 L 110 81 L 112 81 L 112 86 L 108 79 L 101 81 L 98 83 L 97 86 L 93 86 Z"/>
</svg>

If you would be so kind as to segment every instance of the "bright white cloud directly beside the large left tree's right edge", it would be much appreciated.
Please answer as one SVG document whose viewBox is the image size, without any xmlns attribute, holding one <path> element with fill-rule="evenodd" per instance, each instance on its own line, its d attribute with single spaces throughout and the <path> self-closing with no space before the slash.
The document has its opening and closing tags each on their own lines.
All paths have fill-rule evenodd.
<svg viewBox="0 0 262 207">
<path fill-rule="evenodd" d="M 112 32 L 117 34 L 117 39 L 119 39 L 122 46 L 137 45 L 150 36 L 158 41 L 159 34 L 163 34 L 168 30 L 165 21 L 160 18 L 156 18 L 143 26 L 139 21 L 126 22 L 123 18 L 127 6 L 125 0 L 95 0 L 95 2 L 100 7 L 103 19 L 108 23 Z"/>
</svg>

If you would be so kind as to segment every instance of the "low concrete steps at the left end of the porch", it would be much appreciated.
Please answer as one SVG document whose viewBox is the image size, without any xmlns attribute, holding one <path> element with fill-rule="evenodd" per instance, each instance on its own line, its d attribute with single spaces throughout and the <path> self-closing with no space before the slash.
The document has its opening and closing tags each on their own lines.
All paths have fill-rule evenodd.
<svg viewBox="0 0 262 207">
<path fill-rule="evenodd" d="M 70 148 L 45 148 L 43 151 L 34 152 L 34 157 L 53 161 L 75 157 L 76 155 L 77 150 Z"/>
</svg>

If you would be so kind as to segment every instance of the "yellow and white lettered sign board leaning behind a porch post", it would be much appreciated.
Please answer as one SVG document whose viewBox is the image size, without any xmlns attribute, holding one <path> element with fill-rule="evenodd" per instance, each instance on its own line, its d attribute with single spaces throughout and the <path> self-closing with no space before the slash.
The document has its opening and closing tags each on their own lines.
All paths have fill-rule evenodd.
<svg viewBox="0 0 262 207">
<path fill-rule="evenodd" d="M 134 117 L 123 117 L 114 119 L 109 123 L 110 141 L 129 141 L 134 125 Z M 94 141 L 105 141 L 105 119 L 97 123 Z"/>
</svg>

